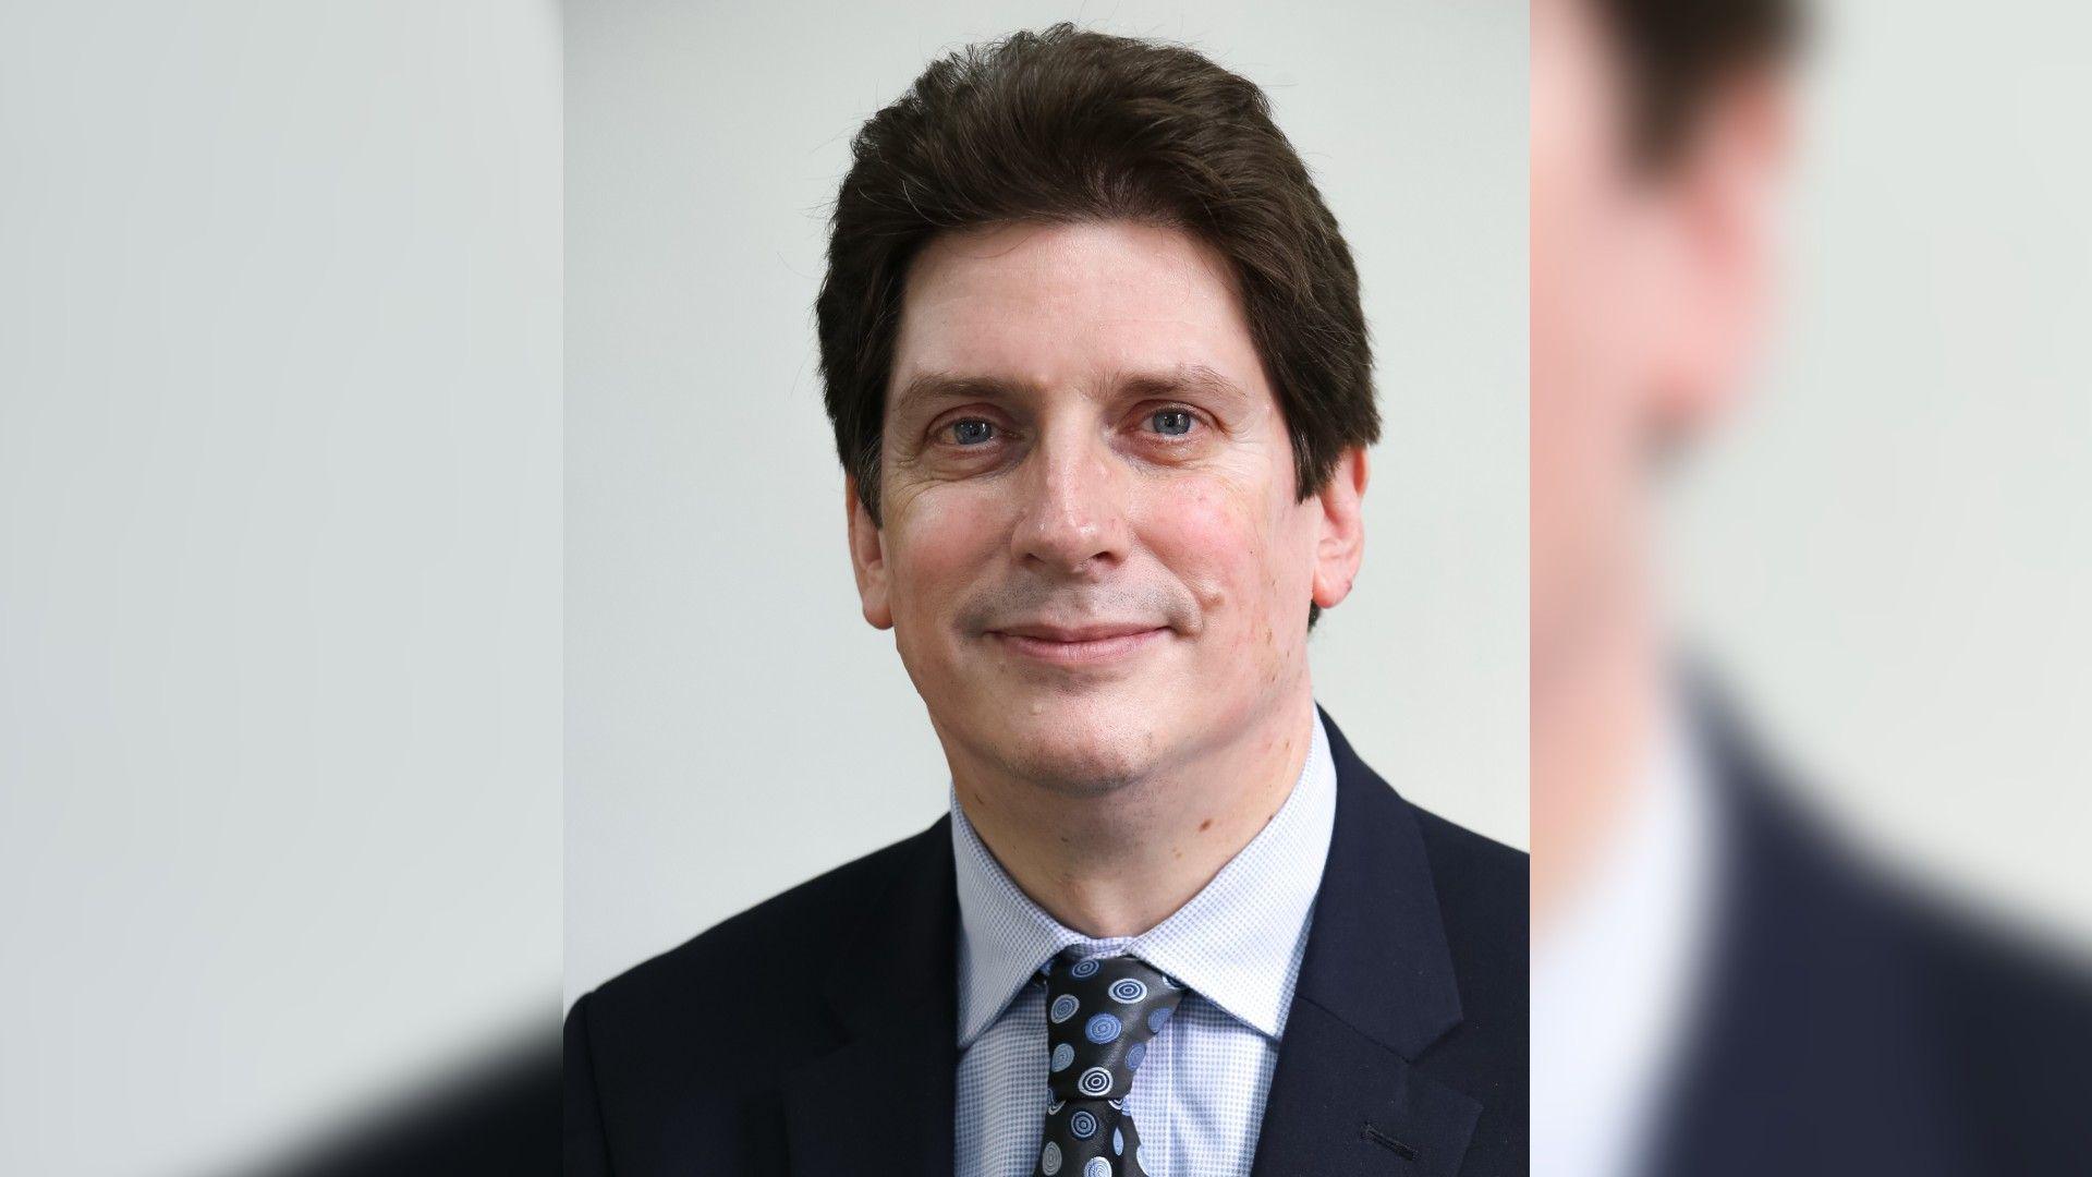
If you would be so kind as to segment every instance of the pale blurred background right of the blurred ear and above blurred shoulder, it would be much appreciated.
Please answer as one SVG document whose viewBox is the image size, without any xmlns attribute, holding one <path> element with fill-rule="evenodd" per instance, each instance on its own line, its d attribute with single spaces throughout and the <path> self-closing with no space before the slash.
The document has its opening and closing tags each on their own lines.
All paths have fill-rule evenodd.
<svg viewBox="0 0 2092 1177">
<path fill-rule="evenodd" d="M 1801 4 L 1766 352 L 1682 626 L 1868 844 L 2092 940 L 2092 10 Z"/>
</svg>

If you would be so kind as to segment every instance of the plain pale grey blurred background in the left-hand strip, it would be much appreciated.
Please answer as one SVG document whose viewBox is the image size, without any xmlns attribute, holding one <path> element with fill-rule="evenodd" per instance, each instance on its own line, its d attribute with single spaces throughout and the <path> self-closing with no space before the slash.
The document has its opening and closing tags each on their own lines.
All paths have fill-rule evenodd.
<svg viewBox="0 0 2092 1177">
<path fill-rule="evenodd" d="M 345 1160 L 552 1041 L 559 65 L 0 4 L 0 1173 Z"/>
</svg>

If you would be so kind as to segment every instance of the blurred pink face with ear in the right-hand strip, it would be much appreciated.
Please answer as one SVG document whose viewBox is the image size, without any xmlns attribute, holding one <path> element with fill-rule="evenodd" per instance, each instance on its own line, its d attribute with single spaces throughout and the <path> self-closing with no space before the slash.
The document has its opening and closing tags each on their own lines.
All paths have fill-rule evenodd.
<svg viewBox="0 0 2092 1177">
<path fill-rule="evenodd" d="M 1659 461 L 1734 394 L 1764 316 L 1778 88 L 1713 88 L 1636 153 L 1630 77 L 1590 0 L 1531 6 L 1531 641 L 1544 689 L 1644 609 Z"/>
</svg>

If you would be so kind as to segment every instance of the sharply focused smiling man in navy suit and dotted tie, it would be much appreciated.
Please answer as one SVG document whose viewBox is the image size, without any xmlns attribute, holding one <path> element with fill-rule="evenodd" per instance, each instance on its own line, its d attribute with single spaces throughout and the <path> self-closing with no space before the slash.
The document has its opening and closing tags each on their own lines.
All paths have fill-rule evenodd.
<svg viewBox="0 0 2092 1177">
<path fill-rule="evenodd" d="M 1056 25 L 854 157 L 822 377 L 950 813 L 575 1003 L 569 1171 L 1521 1173 L 1523 854 L 1312 695 L 1379 419 L 1264 94 Z"/>
</svg>

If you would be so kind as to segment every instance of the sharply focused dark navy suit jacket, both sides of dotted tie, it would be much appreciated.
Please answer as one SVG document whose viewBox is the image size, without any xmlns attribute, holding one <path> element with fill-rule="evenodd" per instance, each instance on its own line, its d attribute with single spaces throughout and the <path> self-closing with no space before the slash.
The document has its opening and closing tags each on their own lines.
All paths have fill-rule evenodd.
<svg viewBox="0 0 2092 1177">
<path fill-rule="evenodd" d="M 1253 1177 L 1521 1175 L 1525 854 L 1322 723 L 1337 827 Z M 943 817 L 602 984 L 567 1016 L 567 1173 L 952 1173 L 956 940 Z"/>
</svg>

